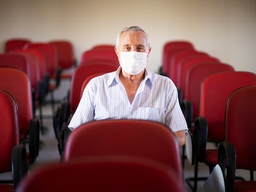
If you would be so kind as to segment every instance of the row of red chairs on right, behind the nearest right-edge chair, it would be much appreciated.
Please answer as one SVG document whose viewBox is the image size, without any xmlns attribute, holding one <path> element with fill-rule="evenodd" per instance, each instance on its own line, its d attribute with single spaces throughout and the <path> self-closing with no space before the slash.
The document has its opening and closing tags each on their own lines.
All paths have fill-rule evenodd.
<svg viewBox="0 0 256 192">
<path fill-rule="evenodd" d="M 256 85 L 256 75 L 234 70 L 220 59 L 197 51 L 189 41 L 164 45 L 160 72 L 171 78 L 179 90 L 190 130 L 186 152 L 190 163 L 195 165 L 194 177 L 186 178 L 186 183 L 196 191 L 198 180 L 207 179 L 198 178 L 198 162 L 207 164 L 210 172 L 218 164 L 218 149 L 207 149 L 207 143 L 218 145 L 225 140 L 224 113 L 228 96 L 237 88 Z"/>
</svg>

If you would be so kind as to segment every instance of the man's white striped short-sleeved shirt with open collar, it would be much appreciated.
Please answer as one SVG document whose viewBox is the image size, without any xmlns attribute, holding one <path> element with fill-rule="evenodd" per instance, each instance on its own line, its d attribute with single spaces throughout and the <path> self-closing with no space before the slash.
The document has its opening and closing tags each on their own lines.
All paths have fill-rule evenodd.
<svg viewBox="0 0 256 192">
<path fill-rule="evenodd" d="M 145 78 L 130 104 L 119 79 L 121 67 L 90 80 L 70 123 L 70 130 L 82 123 L 102 119 L 142 119 L 164 123 L 173 132 L 187 130 L 177 88 L 170 78 L 145 71 Z"/>
</svg>

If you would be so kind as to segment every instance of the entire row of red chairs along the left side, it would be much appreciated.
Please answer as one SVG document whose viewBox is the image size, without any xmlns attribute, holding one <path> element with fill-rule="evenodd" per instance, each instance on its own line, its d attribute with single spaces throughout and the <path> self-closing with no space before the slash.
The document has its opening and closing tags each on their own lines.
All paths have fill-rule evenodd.
<svg viewBox="0 0 256 192">
<path fill-rule="evenodd" d="M 6 42 L 5 48 L 6 52 L 0 54 L 0 90 L 5 98 L 2 101 L 8 98 L 9 103 L 1 103 L 4 110 L 1 114 L 0 141 L 5 148 L 1 151 L 0 172 L 12 170 L 13 180 L 4 183 L 13 185 L 1 185 L 0 191 L 14 191 L 39 154 L 40 128 L 43 133 L 41 106 L 46 94 L 53 96 L 58 87 L 57 76 L 60 77 L 61 68 L 67 66 L 72 47 L 67 41 L 34 43 L 12 39 Z M 59 67 L 61 64 L 62 67 Z M 54 84 L 51 84 L 52 78 L 56 79 Z M 35 115 L 38 108 L 40 120 Z"/>
</svg>

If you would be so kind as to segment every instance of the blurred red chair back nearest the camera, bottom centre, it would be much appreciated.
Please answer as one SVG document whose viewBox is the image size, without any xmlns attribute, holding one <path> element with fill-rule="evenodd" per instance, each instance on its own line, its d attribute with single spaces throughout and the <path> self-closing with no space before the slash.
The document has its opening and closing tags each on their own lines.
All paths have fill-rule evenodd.
<svg viewBox="0 0 256 192">
<path fill-rule="evenodd" d="M 47 184 L 46 184 L 47 183 Z M 186 191 L 170 167 L 142 157 L 94 156 L 44 165 L 30 173 L 17 192 Z"/>
</svg>

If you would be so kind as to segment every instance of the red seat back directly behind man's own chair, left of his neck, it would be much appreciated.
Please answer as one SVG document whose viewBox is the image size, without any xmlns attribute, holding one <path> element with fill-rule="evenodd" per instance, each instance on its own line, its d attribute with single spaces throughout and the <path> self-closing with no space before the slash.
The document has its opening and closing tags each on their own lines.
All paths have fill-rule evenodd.
<svg viewBox="0 0 256 192">
<path fill-rule="evenodd" d="M 116 65 L 113 64 L 87 64 L 87 65 L 80 65 L 75 69 L 72 80 L 70 84 L 70 96 L 69 96 L 69 103 L 70 103 L 70 112 L 74 113 L 75 109 L 80 101 L 80 93 L 81 88 L 83 85 L 83 81 L 93 74 L 98 73 L 108 73 L 113 72 L 117 69 Z"/>
</svg>

